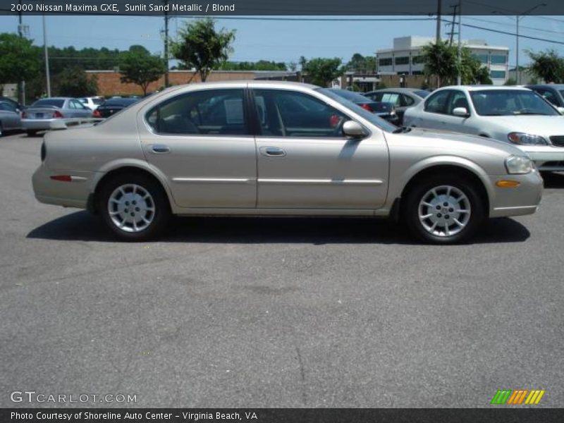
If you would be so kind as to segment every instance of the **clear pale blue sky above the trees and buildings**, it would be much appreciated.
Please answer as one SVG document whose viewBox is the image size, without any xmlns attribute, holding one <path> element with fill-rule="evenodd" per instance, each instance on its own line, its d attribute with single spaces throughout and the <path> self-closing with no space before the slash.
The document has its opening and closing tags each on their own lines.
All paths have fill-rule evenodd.
<svg viewBox="0 0 564 423">
<path fill-rule="evenodd" d="M 266 18 L 266 17 L 265 17 Z M 270 17 L 274 18 L 274 17 Z M 306 18 L 306 17 L 304 17 Z M 312 18 L 312 17 L 307 17 Z M 339 57 L 344 62 L 355 53 L 374 55 L 377 49 L 391 48 L 394 37 L 407 35 L 434 37 L 435 20 L 404 21 L 346 21 L 344 19 L 394 18 L 386 16 L 354 17 L 326 16 L 313 18 L 331 21 L 295 20 L 239 20 L 217 18 L 217 27 L 236 30 L 234 52 L 230 60 L 271 60 L 298 63 L 300 56 Z M 406 17 L 405 19 L 408 19 Z M 429 19 L 428 16 L 412 18 Z M 173 18 L 169 30 L 175 37 L 176 30 L 189 18 Z M 164 18 L 153 16 L 47 16 L 47 42 L 56 47 L 74 46 L 128 49 L 132 44 L 142 44 L 149 51 L 163 51 L 161 30 Z M 42 16 L 24 16 L 29 25 L 29 37 L 35 44 L 43 45 Z M 515 33 L 515 18 L 508 16 L 463 16 L 462 23 Z M 0 16 L 0 32 L 17 32 L 16 16 Z M 443 36 L 448 26 L 441 25 Z M 527 63 L 525 49 L 544 50 L 553 48 L 564 56 L 564 16 L 526 16 L 520 23 L 520 34 L 551 39 L 562 44 L 552 44 L 532 39 L 520 39 L 520 64 Z M 488 32 L 462 27 L 462 39 L 485 39 L 490 45 L 510 48 L 510 66 L 515 64 L 515 35 Z"/>
</svg>

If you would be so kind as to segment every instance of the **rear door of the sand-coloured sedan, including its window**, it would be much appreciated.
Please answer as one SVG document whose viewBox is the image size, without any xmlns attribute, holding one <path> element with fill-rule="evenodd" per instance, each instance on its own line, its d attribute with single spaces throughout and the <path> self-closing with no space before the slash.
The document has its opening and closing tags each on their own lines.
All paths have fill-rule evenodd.
<svg viewBox="0 0 564 423">
<path fill-rule="evenodd" d="M 138 116 L 147 161 L 168 178 L 180 207 L 254 208 L 255 137 L 244 88 L 190 91 Z"/>
</svg>

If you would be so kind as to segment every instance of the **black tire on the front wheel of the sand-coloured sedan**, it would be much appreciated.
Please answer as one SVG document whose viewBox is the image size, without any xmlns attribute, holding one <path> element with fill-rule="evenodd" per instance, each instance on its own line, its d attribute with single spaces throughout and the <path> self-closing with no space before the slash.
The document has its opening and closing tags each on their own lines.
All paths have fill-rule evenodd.
<svg viewBox="0 0 564 423">
<path fill-rule="evenodd" d="M 470 206 L 468 216 L 463 213 L 459 214 L 455 210 L 457 207 L 450 208 L 451 203 L 442 203 L 449 204 L 447 208 L 443 207 L 439 201 L 435 207 L 441 206 L 443 209 L 435 209 L 435 207 L 422 205 L 422 216 L 430 216 L 429 212 L 431 210 L 433 210 L 433 216 L 427 219 L 419 219 L 419 204 L 422 203 L 423 200 L 431 198 L 439 199 L 441 196 L 444 198 L 446 193 L 449 192 L 448 187 L 451 188 L 450 192 L 452 192 L 451 196 L 453 198 L 458 197 L 462 199 L 460 200 L 461 203 L 459 203 L 465 204 L 462 209 L 467 209 L 467 206 Z M 430 194 L 431 190 L 434 188 L 436 188 L 435 192 L 439 194 L 437 197 Z M 465 196 L 465 200 L 464 197 L 459 197 L 459 192 L 462 192 Z M 427 203 L 435 204 L 431 201 L 427 201 Z M 484 221 L 486 216 L 484 204 L 480 191 L 471 180 L 459 176 L 431 176 L 421 180 L 407 192 L 403 207 L 403 217 L 407 228 L 409 228 L 412 235 L 415 235 L 419 240 L 434 244 L 462 243 L 471 238 Z M 431 221 L 431 219 L 434 220 Z M 443 219 L 443 221 L 441 221 L 441 219 Z M 454 221 L 454 219 L 456 220 Z M 441 223 L 439 223 L 439 226 L 434 230 L 434 233 L 431 233 L 434 221 L 440 221 Z M 458 222 L 465 223 L 465 225 L 459 225 Z M 427 228 L 424 226 L 425 224 L 427 224 Z M 442 228 L 440 225 L 442 224 L 444 224 L 446 228 L 441 231 Z M 453 232 L 453 234 L 448 235 L 450 232 Z"/>
</svg>

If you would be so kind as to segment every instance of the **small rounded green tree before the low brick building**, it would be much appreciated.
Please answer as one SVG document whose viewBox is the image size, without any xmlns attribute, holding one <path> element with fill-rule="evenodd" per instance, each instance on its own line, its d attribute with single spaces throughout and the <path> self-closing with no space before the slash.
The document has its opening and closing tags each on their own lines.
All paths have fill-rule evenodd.
<svg viewBox="0 0 564 423">
<path fill-rule="evenodd" d="M 166 72 L 166 66 L 163 59 L 153 56 L 145 47 L 131 46 L 121 57 L 119 72 L 121 82 L 139 85 L 143 94 L 147 95 L 147 87 L 161 78 Z"/>
</svg>

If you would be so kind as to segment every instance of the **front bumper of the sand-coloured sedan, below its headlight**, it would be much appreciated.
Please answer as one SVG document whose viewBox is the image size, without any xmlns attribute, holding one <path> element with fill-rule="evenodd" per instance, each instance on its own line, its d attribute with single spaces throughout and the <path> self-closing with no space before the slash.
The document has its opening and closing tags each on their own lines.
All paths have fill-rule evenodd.
<svg viewBox="0 0 564 423">
<path fill-rule="evenodd" d="M 490 199 L 490 217 L 522 216 L 537 212 L 542 198 L 543 180 L 538 171 L 526 175 L 489 176 L 492 192 Z M 515 180 L 519 186 L 501 188 L 499 180 Z"/>
</svg>

